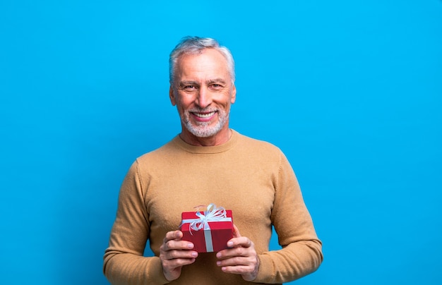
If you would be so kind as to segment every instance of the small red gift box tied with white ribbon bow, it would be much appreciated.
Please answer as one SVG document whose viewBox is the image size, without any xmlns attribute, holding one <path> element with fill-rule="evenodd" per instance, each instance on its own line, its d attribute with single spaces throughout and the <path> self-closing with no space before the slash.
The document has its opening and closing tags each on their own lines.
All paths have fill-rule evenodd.
<svg viewBox="0 0 442 285">
<path fill-rule="evenodd" d="M 233 238 L 232 211 L 210 204 L 204 212 L 181 213 L 183 241 L 190 241 L 198 253 L 212 253 L 227 248 Z"/>
</svg>

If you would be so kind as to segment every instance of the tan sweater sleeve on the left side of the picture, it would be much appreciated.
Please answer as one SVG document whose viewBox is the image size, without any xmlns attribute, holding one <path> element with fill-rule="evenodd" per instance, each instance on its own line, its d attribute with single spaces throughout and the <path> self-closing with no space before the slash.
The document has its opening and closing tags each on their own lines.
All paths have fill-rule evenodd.
<svg viewBox="0 0 442 285">
<path fill-rule="evenodd" d="M 121 186 L 117 217 L 104 253 L 104 275 L 111 284 L 167 284 L 159 257 L 143 257 L 149 218 L 143 198 L 138 163 Z"/>
</svg>

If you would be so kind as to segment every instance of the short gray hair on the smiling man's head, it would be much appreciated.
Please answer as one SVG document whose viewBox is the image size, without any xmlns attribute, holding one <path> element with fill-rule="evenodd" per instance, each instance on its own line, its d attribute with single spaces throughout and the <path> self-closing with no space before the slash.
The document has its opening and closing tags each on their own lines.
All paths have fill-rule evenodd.
<svg viewBox="0 0 442 285">
<path fill-rule="evenodd" d="M 229 70 L 232 84 L 235 82 L 235 63 L 232 53 L 227 47 L 221 46 L 216 40 L 210 37 L 183 37 L 177 47 L 175 47 L 169 56 L 169 80 L 174 81 L 175 66 L 179 56 L 182 54 L 201 54 L 203 49 L 216 49 L 227 60 L 227 69 Z"/>
</svg>

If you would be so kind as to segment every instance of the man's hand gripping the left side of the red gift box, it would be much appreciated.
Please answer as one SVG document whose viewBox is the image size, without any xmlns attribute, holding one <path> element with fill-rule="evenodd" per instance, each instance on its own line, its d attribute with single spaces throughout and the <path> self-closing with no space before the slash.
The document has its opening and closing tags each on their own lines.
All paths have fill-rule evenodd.
<svg viewBox="0 0 442 285">
<path fill-rule="evenodd" d="M 181 241 L 181 231 L 169 231 L 160 246 L 162 272 L 168 281 L 178 279 L 181 267 L 195 262 L 198 253 L 193 251 L 193 243 Z"/>
</svg>

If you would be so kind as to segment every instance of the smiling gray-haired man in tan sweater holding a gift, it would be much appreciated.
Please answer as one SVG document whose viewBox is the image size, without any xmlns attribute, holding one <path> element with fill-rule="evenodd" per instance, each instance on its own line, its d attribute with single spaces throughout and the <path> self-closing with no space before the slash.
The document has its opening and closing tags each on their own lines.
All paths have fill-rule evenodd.
<svg viewBox="0 0 442 285">
<path fill-rule="evenodd" d="M 268 142 L 229 128 L 237 90 L 229 50 L 184 38 L 169 59 L 172 105 L 182 131 L 136 159 L 121 186 L 104 274 L 112 284 L 247 284 L 292 281 L 323 255 L 292 167 Z M 234 237 L 218 253 L 182 241 L 181 212 L 232 210 Z M 272 226 L 281 250 L 269 251 Z M 143 257 L 147 241 L 155 253 Z"/>
</svg>

